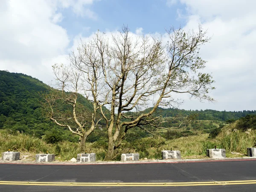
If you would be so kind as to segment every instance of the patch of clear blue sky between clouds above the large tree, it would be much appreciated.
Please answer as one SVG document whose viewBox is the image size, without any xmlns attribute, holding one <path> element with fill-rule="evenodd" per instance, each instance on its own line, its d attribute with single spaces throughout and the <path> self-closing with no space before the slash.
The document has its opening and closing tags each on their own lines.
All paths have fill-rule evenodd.
<svg viewBox="0 0 256 192">
<path fill-rule="evenodd" d="M 186 24 L 184 19 L 177 19 L 176 12 L 177 9 L 184 9 L 185 6 L 177 3 L 169 7 L 166 6 L 165 0 L 101 0 L 95 1 L 88 7 L 97 13 L 96 19 L 87 20 L 78 17 L 72 12 L 72 8 L 63 10 L 65 16 L 59 24 L 68 29 L 69 35 L 76 35 L 86 26 L 90 27 L 90 30 L 83 35 L 98 29 L 101 31 L 119 29 L 123 24 L 128 25 L 134 32 L 136 28 L 143 27 L 145 33 L 164 32 L 164 28 L 170 25 Z"/>
</svg>

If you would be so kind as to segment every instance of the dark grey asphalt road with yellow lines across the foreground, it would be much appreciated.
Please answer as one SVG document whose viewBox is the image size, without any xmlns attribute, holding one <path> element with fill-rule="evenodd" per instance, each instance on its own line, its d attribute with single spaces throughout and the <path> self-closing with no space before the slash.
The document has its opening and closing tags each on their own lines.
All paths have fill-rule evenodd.
<svg viewBox="0 0 256 192">
<path fill-rule="evenodd" d="M 106 165 L 0 164 L 1 192 L 71 190 L 234 192 L 256 191 L 255 183 L 256 160 Z"/>
</svg>

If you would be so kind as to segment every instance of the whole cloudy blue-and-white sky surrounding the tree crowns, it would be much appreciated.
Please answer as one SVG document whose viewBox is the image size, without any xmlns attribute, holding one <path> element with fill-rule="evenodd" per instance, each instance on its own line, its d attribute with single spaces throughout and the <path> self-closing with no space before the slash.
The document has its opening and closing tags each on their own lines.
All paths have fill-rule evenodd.
<svg viewBox="0 0 256 192">
<path fill-rule="evenodd" d="M 165 33 L 196 29 L 212 39 L 201 48 L 216 81 L 216 103 L 186 99 L 184 109 L 256 110 L 255 0 L 1 0 L 0 70 L 49 84 L 52 65 L 66 61 L 80 38 L 98 29 Z"/>
</svg>

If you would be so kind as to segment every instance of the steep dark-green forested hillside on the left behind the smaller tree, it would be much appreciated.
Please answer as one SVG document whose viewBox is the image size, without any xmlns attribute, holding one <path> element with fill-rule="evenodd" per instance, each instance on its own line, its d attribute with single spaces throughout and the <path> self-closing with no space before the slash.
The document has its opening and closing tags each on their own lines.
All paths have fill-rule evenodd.
<svg viewBox="0 0 256 192">
<path fill-rule="evenodd" d="M 48 85 L 31 76 L 0 71 L 0 129 L 12 133 L 24 132 L 39 138 L 46 135 L 56 142 L 78 141 L 70 131 L 43 116 L 40 93 L 49 90 Z M 90 110 L 91 106 L 84 97 L 80 96 L 79 101 Z"/>
</svg>

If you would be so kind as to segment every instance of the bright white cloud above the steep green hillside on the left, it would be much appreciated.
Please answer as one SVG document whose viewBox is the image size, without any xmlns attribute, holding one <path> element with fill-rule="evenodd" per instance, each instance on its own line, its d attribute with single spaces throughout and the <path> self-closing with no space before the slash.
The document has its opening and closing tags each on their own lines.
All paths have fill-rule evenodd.
<svg viewBox="0 0 256 192">
<path fill-rule="evenodd" d="M 58 25 L 63 18 L 60 9 L 78 4 L 87 9 L 83 7 L 92 3 L 93 0 L 2 0 L 0 70 L 25 73 L 47 83 L 53 78 L 51 66 L 64 57 L 70 43 L 66 29 Z"/>
</svg>

